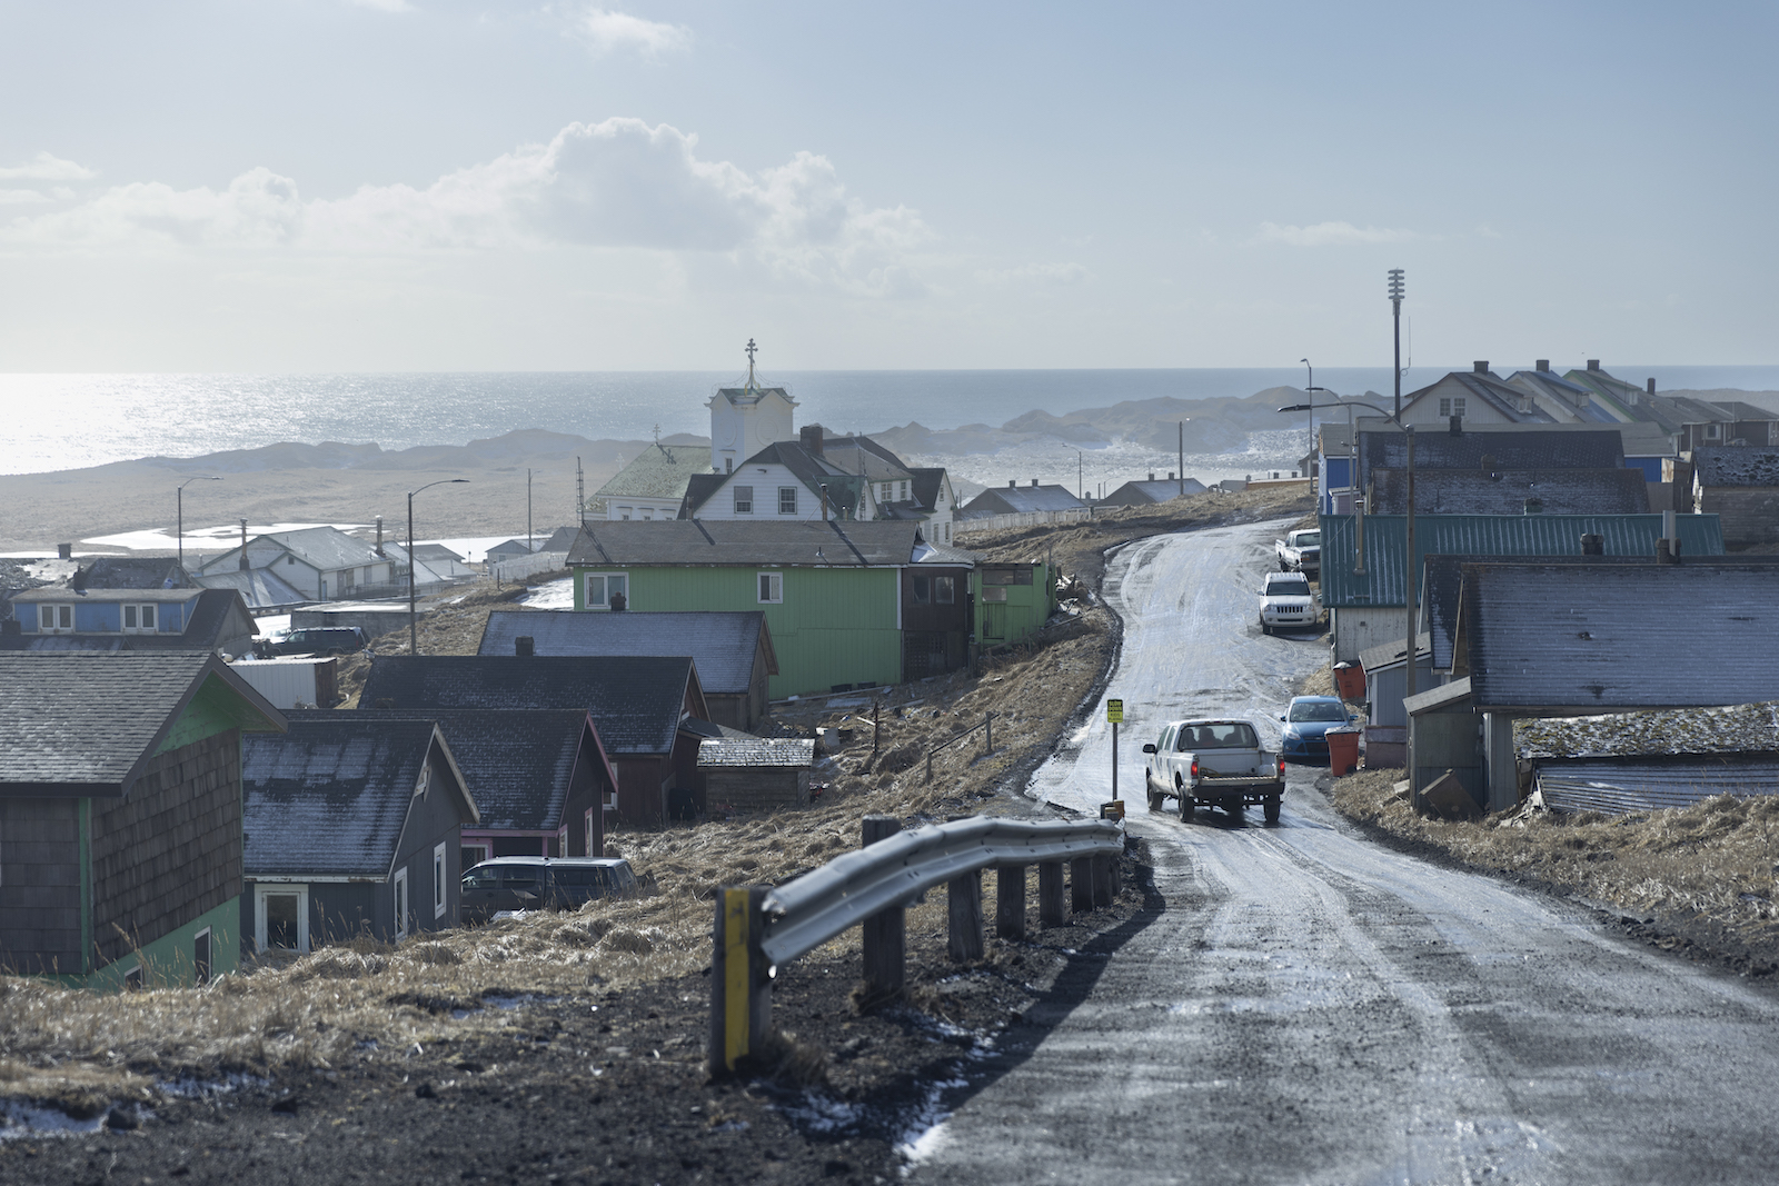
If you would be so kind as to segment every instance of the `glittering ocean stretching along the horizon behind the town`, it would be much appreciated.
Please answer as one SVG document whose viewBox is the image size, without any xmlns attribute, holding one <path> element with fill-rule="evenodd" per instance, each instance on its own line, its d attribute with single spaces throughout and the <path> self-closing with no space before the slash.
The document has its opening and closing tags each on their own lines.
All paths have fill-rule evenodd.
<svg viewBox="0 0 1779 1186">
<path fill-rule="evenodd" d="M 1530 365 L 1530 363 L 1528 363 Z M 1416 368 L 1404 391 L 1448 368 Z M 1512 366 L 1496 366 L 1507 375 Z M 1608 366 L 1658 389 L 1779 389 L 1779 366 Z M 0 473 L 78 469 L 135 457 L 196 457 L 279 441 L 375 441 L 386 450 L 464 445 L 514 429 L 591 439 L 706 434 L 704 402 L 740 372 L 358 373 L 358 375 L 0 375 Z M 772 372 L 797 423 L 875 432 L 1002 425 L 1041 409 L 1069 413 L 1156 397 L 1247 397 L 1302 388 L 1302 366 L 1187 370 L 840 370 Z M 1341 395 L 1389 391 L 1389 368 L 1316 370 Z M 1265 434 L 1258 434 L 1265 436 Z M 1274 450 L 1245 464 L 1276 464 Z M 1283 455 L 1288 455 L 1288 450 Z M 1238 468 L 1238 466 L 1236 466 Z M 1190 471 L 1190 468 L 1188 468 Z"/>
</svg>

